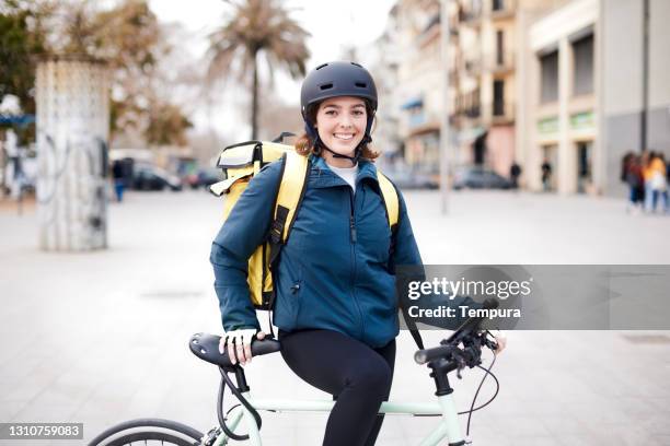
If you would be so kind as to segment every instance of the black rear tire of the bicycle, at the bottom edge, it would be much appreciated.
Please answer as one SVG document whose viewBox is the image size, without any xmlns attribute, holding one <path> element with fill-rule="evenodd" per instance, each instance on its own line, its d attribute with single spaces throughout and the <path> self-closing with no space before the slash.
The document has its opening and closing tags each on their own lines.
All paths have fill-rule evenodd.
<svg viewBox="0 0 670 446">
<path fill-rule="evenodd" d="M 171 420 L 139 419 L 116 424 L 95 438 L 89 446 L 123 446 L 136 442 L 157 441 L 161 445 L 196 446 L 200 444 L 203 434 L 186 424 Z M 168 443 L 166 443 L 168 442 Z"/>
</svg>

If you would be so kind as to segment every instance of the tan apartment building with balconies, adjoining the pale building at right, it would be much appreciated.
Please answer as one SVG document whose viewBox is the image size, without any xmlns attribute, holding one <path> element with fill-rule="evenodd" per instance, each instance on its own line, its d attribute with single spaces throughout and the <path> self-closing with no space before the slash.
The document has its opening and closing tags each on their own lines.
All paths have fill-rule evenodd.
<svg viewBox="0 0 670 446">
<path fill-rule="evenodd" d="M 559 0 L 454 0 L 450 2 L 450 121 L 457 164 L 486 165 L 507 176 L 516 161 L 517 81 L 523 21 Z"/>
</svg>

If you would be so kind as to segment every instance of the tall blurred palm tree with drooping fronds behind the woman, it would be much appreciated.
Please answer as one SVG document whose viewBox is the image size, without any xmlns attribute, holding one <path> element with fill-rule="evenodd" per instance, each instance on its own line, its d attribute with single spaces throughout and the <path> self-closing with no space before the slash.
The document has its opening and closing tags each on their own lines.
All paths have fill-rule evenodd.
<svg viewBox="0 0 670 446">
<path fill-rule="evenodd" d="M 238 67 L 239 79 L 252 75 L 252 139 L 258 131 L 258 57 L 265 56 L 270 81 L 274 68 L 284 67 L 291 78 L 305 73 L 310 52 L 305 38 L 310 35 L 278 0 L 230 1 L 234 11 L 230 21 L 209 36 L 209 85 L 226 78 Z"/>
</svg>

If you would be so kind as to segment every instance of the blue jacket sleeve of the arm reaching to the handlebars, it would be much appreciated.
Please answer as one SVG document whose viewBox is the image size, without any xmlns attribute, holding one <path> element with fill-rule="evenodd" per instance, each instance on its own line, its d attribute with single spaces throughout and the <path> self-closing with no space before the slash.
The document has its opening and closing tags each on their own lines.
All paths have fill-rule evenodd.
<svg viewBox="0 0 670 446">
<path fill-rule="evenodd" d="M 407 283 L 409 281 L 425 281 L 426 272 L 424 269 L 424 263 L 421 261 L 421 255 L 418 250 L 416 239 L 414 238 L 414 232 L 412 231 L 412 223 L 409 222 L 409 215 L 407 214 L 407 206 L 405 204 L 405 199 L 401 191 L 397 189 L 397 187 L 395 190 L 397 191 L 400 200 L 400 214 L 397 223 L 398 225 L 395 233 L 395 247 L 393 249 L 391 258 L 391 272 L 393 274 L 396 274 L 396 280 L 398 280 L 396 268 L 403 268 L 401 274 L 402 283 L 398 282 L 396 285 L 398 290 L 400 304 L 404 306 L 403 310 L 406 310 L 409 305 L 418 305 L 420 308 L 434 309 L 439 308 L 440 306 L 449 306 L 457 309 L 460 306 L 481 308 L 482 304 L 473 301 L 469 296 L 455 296 L 454 298 L 450 300 L 443 295 L 430 294 L 424 295 L 417 301 L 411 301 L 407 297 Z M 457 315 L 460 315 L 460 312 L 457 310 Z M 416 322 L 423 322 L 426 325 L 438 326 L 447 329 L 455 329 L 465 319 L 461 317 L 441 319 L 438 321 L 436 321 L 435 319 L 415 318 Z"/>
</svg>

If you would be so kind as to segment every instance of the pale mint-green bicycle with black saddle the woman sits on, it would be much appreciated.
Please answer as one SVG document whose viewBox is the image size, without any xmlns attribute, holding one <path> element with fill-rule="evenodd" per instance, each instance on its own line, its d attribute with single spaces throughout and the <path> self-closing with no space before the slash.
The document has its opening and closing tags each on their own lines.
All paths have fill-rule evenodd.
<svg viewBox="0 0 670 446">
<path fill-rule="evenodd" d="M 494 308 L 497 302 L 487 301 L 485 308 Z M 437 427 L 428 434 L 420 443 L 420 446 L 434 446 L 447 438 L 449 446 L 462 446 L 466 444 L 461 434 L 458 421 L 459 414 L 467 413 L 470 416 L 476 410 L 488 406 L 497 396 L 499 383 L 496 376 L 490 373 L 495 363 L 492 362 L 488 368 L 482 367 L 482 349 L 484 347 L 492 351 L 497 350 L 495 340 L 487 330 L 481 328 L 483 317 L 471 317 L 465 320 L 448 339 L 440 342 L 439 347 L 418 350 L 414 360 L 417 364 L 426 365 L 431 372 L 436 385 L 437 403 L 435 402 L 382 402 L 379 412 L 392 414 L 420 415 L 420 416 L 441 416 Z M 250 441 L 251 445 L 261 446 L 262 418 L 258 411 L 282 412 L 282 411 L 308 411 L 308 412 L 330 412 L 335 404 L 332 400 L 280 400 L 280 399 L 255 399 L 251 396 L 250 387 L 246 383 L 244 369 L 239 364 L 233 365 L 228 357 L 228 353 L 219 353 L 220 337 L 216 334 L 196 333 L 188 344 L 190 351 L 199 359 L 219 366 L 221 373 L 221 384 L 217 400 L 217 415 L 219 426 L 210 429 L 206 434 L 187 426 L 185 424 L 161 419 L 139 419 L 117 424 L 102 432 L 91 441 L 90 446 L 122 446 L 130 445 L 134 442 L 157 441 L 163 445 L 176 446 L 221 446 L 229 444 L 229 441 Z M 278 352 L 280 343 L 272 338 L 256 340 L 252 344 L 253 356 L 261 356 Z M 478 367 L 485 371 L 484 378 L 475 392 L 470 410 L 457 412 L 452 398 L 453 389 L 449 385 L 448 374 L 457 372 L 461 378 L 461 372 L 465 367 Z M 234 374 L 233 384 L 229 374 Z M 484 384 L 486 376 L 492 376 L 496 384 L 494 396 L 484 404 L 474 408 L 475 400 Z M 238 398 L 239 403 L 231 407 L 223 414 L 223 399 L 226 388 Z M 467 420 L 467 432 L 470 435 L 470 416 Z M 247 433 L 236 434 L 234 431 L 241 422 L 246 425 Z M 471 442 L 467 442 L 470 444 Z"/>
</svg>

